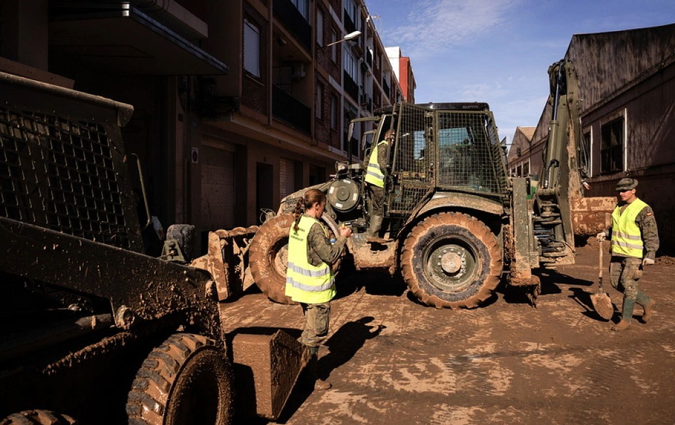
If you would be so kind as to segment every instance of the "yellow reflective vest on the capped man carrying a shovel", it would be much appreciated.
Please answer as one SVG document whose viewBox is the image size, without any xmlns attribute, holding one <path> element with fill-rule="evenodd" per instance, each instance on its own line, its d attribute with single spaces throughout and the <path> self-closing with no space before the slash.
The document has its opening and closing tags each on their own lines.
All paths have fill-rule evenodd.
<svg viewBox="0 0 675 425">
<path fill-rule="evenodd" d="M 640 228 L 635 224 L 635 218 L 647 204 L 641 199 L 635 199 L 628 204 L 621 214 L 617 205 L 612 211 L 612 254 L 627 257 L 642 258 L 643 242 Z"/>
</svg>

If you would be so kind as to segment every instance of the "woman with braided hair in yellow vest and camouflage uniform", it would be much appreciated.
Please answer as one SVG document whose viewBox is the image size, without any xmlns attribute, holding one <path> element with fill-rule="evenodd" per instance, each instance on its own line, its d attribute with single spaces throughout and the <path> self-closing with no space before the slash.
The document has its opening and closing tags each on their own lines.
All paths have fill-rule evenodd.
<svg viewBox="0 0 675 425">
<path fill-rule="evenodd" d="M 309 189 L 298 199 L 288 239 L 288 269 L 286 295 L 302 305 L 306 324 L 300 342 L 312 354 L 309 372 L 315 378 L 316 389 L 329 389 L 331 384 L 317 377 L 319 345 L 328 334 L 330 301 L 335 297 L 335 261 L 344 253 L 352 230 L 340 229 L 340 236 L 331 245 L 328 232 L 319 221 L 326 207 L 326 195 Z M 304 210 L 304 214 L 302 211 Z"/>
</svg>

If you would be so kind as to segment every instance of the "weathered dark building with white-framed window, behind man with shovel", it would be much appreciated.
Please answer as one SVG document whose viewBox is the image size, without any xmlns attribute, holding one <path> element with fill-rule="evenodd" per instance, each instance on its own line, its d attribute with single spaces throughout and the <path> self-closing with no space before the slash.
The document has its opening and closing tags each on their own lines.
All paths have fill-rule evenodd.
<svg viewBox="0 0 675 425">
<path fill-rule="evenodd" d="M 616 182 L 639 179 L 639 197 L 654 209 L 661 245 L 672 249 L 675 224 L 675 24 L 597 34 L 576 34 L 566 52 L 580 85 L 580 155 L 589 196 L 614 196 Z M 540 174 L 551 106 L 546 105 L 521 155 Z"/>
</svg>

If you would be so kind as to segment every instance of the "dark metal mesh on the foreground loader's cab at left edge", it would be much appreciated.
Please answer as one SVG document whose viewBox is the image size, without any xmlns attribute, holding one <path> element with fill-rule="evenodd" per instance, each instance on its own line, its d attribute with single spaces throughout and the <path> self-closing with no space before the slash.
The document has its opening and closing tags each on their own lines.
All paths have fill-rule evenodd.
<svg viewBox="0 0 675 425">
<path fill-rule="evenodd" d="M 0 107 L 0 214 L 129 249 L 105 128 Z"/>
</svg>

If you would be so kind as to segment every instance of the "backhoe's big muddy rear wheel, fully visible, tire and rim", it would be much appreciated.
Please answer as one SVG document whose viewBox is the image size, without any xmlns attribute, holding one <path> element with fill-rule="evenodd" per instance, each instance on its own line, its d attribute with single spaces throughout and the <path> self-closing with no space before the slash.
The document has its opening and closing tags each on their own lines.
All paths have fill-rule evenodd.
<svg viewBox="0 0 675 425">
<path fill-rule="evenodd" d="M 502 274 L 502 251 L 483 222 L 461 213 L 425 218 L 406 238 L 401 253 L 408 288 L 426 305 L 476 307 Z"/>
</svg>

